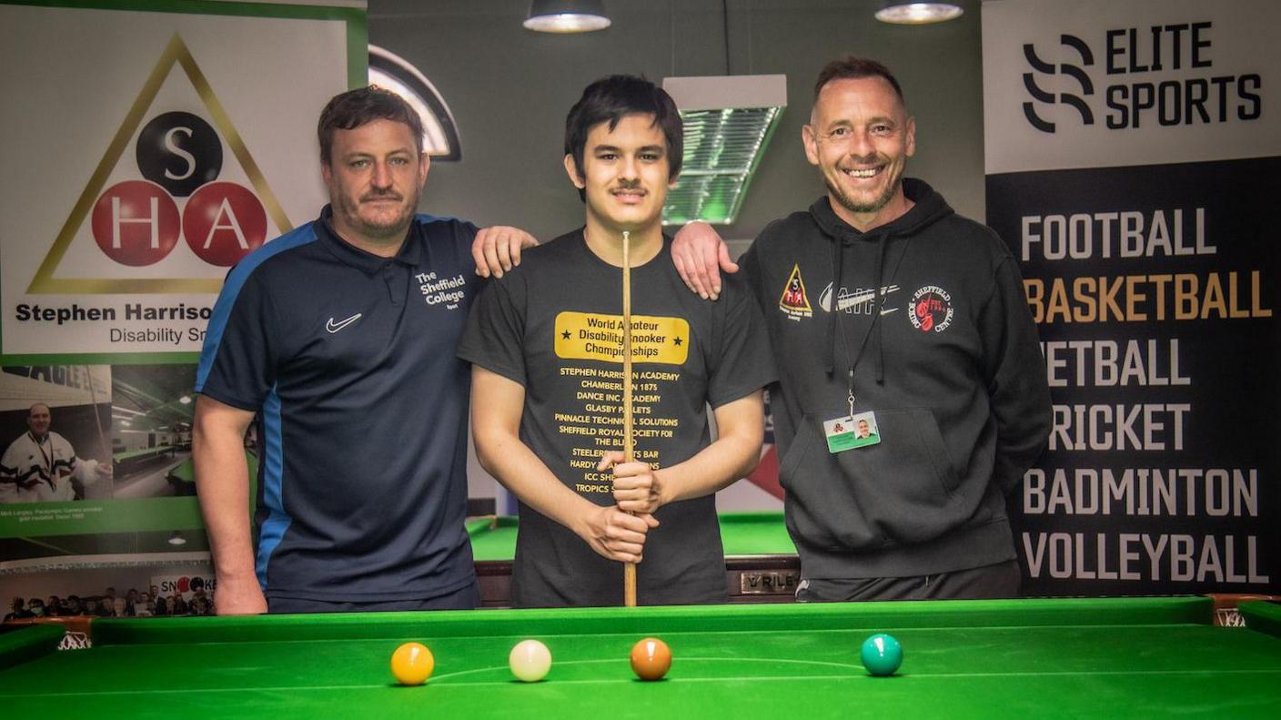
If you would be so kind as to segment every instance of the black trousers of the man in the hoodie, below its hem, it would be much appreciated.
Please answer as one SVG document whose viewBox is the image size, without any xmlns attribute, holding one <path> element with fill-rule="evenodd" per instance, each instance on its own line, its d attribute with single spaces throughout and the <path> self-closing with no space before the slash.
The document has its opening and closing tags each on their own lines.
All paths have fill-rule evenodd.
<svg viewBox="0 0 1281 720">
<path fill-rule="evenodd" d="M 1017 560 L 910 578 L 808 578 L 801 580 L 801 602 L 857 600 L 986 600 L 1018 597 L 1022 573 Z"/>
</svg>

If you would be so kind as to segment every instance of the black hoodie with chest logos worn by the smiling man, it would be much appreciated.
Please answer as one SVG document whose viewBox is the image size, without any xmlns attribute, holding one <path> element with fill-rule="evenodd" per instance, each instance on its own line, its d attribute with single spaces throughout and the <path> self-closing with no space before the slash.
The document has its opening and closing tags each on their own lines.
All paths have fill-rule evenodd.
<svg viewBox="0 0 1281 720">
<path fill-rule="evenodd" d="M 779 480 L 807 578 L 1013 559 L 1004 493 L 1049 436 L 1013 256 L 926 183 L 903 191 L 915 206 L 866 233 L 821 197 L 743 259 L 781 378 L 770 395 Z M 851 377 L 854 413 L 875 413 L 880 442 L 831 454 L 822 423 L 849 414 Z"/>
</svg>

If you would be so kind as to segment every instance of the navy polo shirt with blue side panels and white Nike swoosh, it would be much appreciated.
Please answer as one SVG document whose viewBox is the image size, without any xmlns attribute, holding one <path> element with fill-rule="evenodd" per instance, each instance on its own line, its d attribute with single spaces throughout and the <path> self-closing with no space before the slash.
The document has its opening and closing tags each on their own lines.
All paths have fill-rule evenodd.
<svg viewBox="0 0 1281 720">
<path fill-rule="evenodd" d="M 196 392 L 259 413 L 257 579 L 269 601 L 453 592 L 474 580 L 455 350 L 477 228 L 418 215 L 379 258 L 329 218 L 232 269 L 196 373 Z"/>
</svg>

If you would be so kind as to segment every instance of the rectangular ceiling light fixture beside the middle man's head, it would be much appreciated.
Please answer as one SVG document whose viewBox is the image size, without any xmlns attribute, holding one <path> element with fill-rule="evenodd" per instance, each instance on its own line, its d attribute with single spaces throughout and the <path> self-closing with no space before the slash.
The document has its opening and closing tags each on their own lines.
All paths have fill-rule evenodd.
<svg viewBox="0 0 1281 720">
<path fill-rule="evenodd" d="M 662 223 L 733 223 L 787 108 L 787 76 L 671 77 L 662 88 L 685 124 L 680 177 Z"/>
</svg>

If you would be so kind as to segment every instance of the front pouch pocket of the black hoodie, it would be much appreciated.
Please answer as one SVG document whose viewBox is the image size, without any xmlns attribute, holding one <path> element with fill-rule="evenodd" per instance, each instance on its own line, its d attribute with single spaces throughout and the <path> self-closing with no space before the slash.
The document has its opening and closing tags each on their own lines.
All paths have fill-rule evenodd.
<svg viewBox="0 0 1281 720">
<path fill-rule="evenodd" d="M 872 550 L 933 539 L 972 509 L 956 502 L 957 471 L 934 414 L 921 407 L 876 410 L 881 442 L 828 451 L 822 423 L 840 407 L 804 416 L 779 466 L 788 520 L 807 543 Z"/>
</svg>

